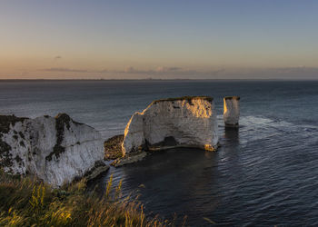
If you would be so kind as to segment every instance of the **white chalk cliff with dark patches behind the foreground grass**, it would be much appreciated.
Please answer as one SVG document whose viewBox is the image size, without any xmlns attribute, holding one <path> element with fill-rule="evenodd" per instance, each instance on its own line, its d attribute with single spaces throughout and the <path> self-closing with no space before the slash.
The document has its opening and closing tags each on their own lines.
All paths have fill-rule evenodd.
<svg viewBox="0 0 318 227">
<path fill-rule="evenodd" d="M 0 166 L 60 186 L 106 169 L 101 134 L 67 114 L 35 119 L 0 116 Z"/>
</svg>

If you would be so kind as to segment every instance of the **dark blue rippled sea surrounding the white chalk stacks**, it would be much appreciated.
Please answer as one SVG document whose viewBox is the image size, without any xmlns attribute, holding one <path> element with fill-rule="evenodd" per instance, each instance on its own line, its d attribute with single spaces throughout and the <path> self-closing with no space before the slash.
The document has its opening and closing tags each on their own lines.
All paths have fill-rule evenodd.
<svg viewBox="0 0 318 227">
<path fill-rule="evenodd" d="M 149 216 L 191 226 L 318 225 L 318 81 L 1 81 L 0 114 L 66 113 L 106 139 L 154 99 L 182 95 L 214 97 L 220 149 L 154 153 L 111 168 L 97 190 L 113 174 Z M 238 130 L 224 130 L 227 95 L 241 96 Z"/>
</svg>

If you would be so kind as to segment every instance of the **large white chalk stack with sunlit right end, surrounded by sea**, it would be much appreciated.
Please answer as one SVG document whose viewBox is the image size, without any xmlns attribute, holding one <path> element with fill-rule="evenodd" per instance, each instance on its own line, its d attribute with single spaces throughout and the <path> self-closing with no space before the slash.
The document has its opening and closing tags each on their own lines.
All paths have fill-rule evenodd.
<svg viewBox="0 0 318 227">
<path fill-rule="evenodd" d="M 123 153 L 173 147 L 213 151 L 218 143 L 214 102 L 210 97 L 181 97 L 154 101 L 135 113 L 124 131 Z"/>
</svg>

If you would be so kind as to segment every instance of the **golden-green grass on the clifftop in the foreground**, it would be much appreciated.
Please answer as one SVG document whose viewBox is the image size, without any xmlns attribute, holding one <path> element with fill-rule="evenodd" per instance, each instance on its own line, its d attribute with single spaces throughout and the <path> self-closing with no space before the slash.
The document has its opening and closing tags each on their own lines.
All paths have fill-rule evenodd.
<svg viewBox="0 0 318 227">
<path fill-rule="evenodd" d="M 59 189 L 0 172 L 0 226 L 174 226 L 147 219 L 143 204 L 121 196 L 111 177 L 104 197 L 85 191 L 82 180 Z"/>
</svg>

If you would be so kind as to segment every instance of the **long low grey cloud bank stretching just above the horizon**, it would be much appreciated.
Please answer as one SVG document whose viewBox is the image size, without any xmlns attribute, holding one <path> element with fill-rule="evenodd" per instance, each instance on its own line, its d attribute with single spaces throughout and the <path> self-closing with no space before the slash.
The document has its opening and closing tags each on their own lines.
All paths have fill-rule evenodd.
<svg viewBox="0 0 318 227">
<path fill-rule="evenodd" d="M 51 73 L 82 73 L 89 76 L 114 78 L 160 78 L 160 79 L 318 79 L 318 67 L 303 65 L 275 68 L 211 68 L 209 70 L 186 69 L 178 66 L 159 66 L 153 69 L 137 69 L 126 66 L 123 70 L 74 69 L 52 67 L 39 69 Z"/>
</svg>

